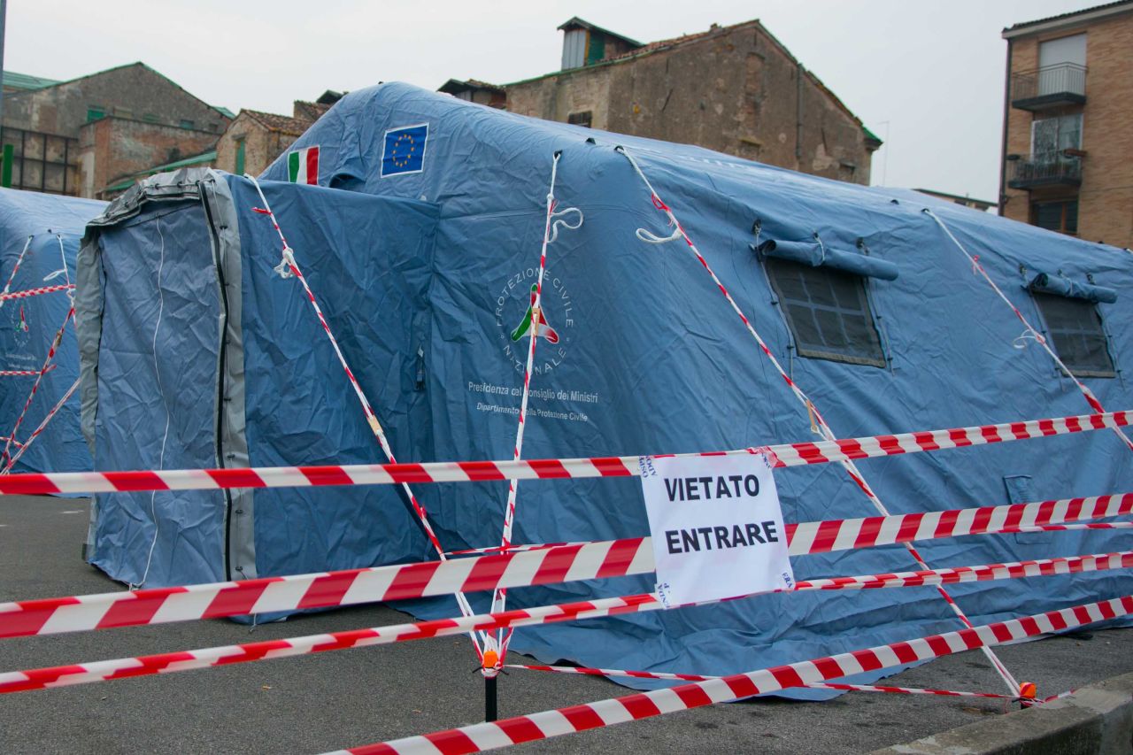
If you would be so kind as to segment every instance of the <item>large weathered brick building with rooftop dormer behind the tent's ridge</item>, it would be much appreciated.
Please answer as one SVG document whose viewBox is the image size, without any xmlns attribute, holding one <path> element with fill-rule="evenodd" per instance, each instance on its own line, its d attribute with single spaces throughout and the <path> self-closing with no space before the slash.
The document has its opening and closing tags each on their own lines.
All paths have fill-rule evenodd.
<svg viewBox="0 0 1133 755">
<path fill-rule="evenodd" d="M 869 184 L 881 141 L 758 20 L 648 44 L 580 18 L 559 28 L 561 70 L 502 86 L 450 79 L 441 91 Z"/>
</svg>

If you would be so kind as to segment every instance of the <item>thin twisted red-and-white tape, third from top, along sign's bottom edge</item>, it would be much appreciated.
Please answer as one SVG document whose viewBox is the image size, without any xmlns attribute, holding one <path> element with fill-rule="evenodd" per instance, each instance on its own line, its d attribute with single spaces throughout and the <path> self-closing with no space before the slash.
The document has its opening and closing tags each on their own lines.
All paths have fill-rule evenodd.
<svg viewBox="0 0 1133 755">
<path fill-rule="evenodd" d="M 959 569 L 932 570 L 931 574 L 908 575 L 869 575 L 860 577 L 828 580 L 821 587 L 800 586 L 795 589 L 829 589 L 863 587 L 905 587 L 921 585 L 943 585 L 976 579 L 1014 579 L 1030 576 L 1049 576 L 1054 574 L 1073 574 L 1133 566 L 1133 552 L 1109 553 L 1100 555 L 1083 555 L 1071 559 L 1053 559 L 1050 563 L 1011 563 L 963 567 Z M 819 580 L 827 582 L 827 580 Z M 792 591 L 783 591 L 792 592 Z M 752 597 L 738 596 L 729 600 Z M 707 605 L 722 601 L 707 601 L 697 605 Z M 688 608 L 688 606 L 674 606 Z M 271 639 L 222 647 L 206 647 L 179 653 L 162 653 L 159 655 L 142 655 L 136 658 L 99 661 L 76 665 L 63 665 L 48 669 L 31 669 L 0 673 L 0 694 L 44 689 L 48 687 L 69 686 L 94 681 L 109 681 L 125 677 L 188 671 L 199 668 L 246 663 L 273 658 L 306 655 L 332 650 L 347 650 L 369 645 L 428 639 L 472 631 L 491 631 L 493 629 L 510 629 L 514 627 L 539 623 L 555 623 L 625 613 L 642 613 L 664 611 L 665 605 L 653 594 L 624 595 L 594 601 L 543 605 L 530 609 L 514 609 L 479 616 L 463 616 L 453 619 L 436 619 L 416 623 L 394 625 L 389 627 L 372 627 L 350 631 L 335 631 L 288 639 Z M 844 676 L 844 675 L 838 675 Z"/>
</svg>

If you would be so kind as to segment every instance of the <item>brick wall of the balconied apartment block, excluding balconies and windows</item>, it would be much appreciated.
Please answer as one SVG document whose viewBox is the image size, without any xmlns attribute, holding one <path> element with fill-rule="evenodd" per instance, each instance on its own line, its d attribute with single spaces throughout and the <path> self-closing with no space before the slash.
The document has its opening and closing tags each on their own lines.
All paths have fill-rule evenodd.
<svg viewBox="0 0 1133 755">
<path fill-rule="evenodd" d="M 1077 197 L 1077 235 L 1090 241 L 1133 247 L 1133 14 L 1111 17 L 1082 28 L 1062 29 L 1012 41 L 1013 71 L 1039 66 L 1039 43 L 1085 32 L 1085 104 L 1059 112 L 1082 113 L 1082 186 L 1032 192 L 1006 187 L 1003 214 L 1030 221 L 1034 201 Z M 1007 154 L 1031 151 L 1031 124 L 1058 112 L 1031 113 L 1007 107 Z M 1008 167 L 1010 178 L 1010 167 Z"/>
</svg>

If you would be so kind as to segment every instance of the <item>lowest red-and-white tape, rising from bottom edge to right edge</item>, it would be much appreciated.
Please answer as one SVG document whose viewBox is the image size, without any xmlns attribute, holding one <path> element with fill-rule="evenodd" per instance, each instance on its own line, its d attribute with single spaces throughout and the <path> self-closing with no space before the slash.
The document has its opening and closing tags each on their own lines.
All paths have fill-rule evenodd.
<svg viewBox="0 0 1133 755">
<path fill-rule="evenodd" d="M 625 695 L 597 703 L 572 705 L 554 711 L 520 715 L 503 721 L 477 723 L 459 729 L 407 737 L 374 745 L 337 750 L 333 755 L 462 755 L 526 741 L 576 733 L 599 727 L 675 713 L 702 705 L 780 692 L 828 681 L 863 671 L 927 661 L 985 645 L 1065 631 L 1088 623 L 1127 616 L 1133 612 L 1133 596 L 1117 597 L 1085 605 L 1038 613 L 1022 619 L 998 621 L 903 643 L 878 645 L 838 655 L 738 673 L 721 679 L 695 681 L 667 689 Z M 329 754 L 330 755 L 330 754 Z"/>
</svg>

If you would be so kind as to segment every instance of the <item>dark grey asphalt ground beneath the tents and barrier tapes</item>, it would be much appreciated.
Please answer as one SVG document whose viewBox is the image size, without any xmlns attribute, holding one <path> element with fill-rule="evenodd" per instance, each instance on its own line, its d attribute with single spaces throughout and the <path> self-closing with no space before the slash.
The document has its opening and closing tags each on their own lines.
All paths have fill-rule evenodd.
<svg viewBox="0 0 1133 755">
<path fill-rule="evenodd" d="M 121 589 L 79 558 L 86 501 L 0 497 L 0 601 Z M 0 641 L 0 670 L 22 670 L 356 629 L 409 620 L 385 606 L 249 627 L 227 620 Z M 998 651 L 1020 679 L 1054 694 L 1133 671 L 1133 629 Z M 0 697 L 0 752 L 322 753 L 482 720 L 483 682 L 467 639 L 244 663 Z M 892 678 L 911 687 L 998 692 L 979 652 Z M 625 694 L 604 679 L 513 672 L 501 715 Z M 717 705 L 523 746 L 525 752 L 815 753 L 838 755 L 926 737 L 1007 710 L 1002 701 L 854 693 L 825 703 Z"/>
</svg>

